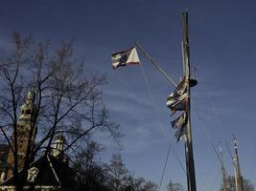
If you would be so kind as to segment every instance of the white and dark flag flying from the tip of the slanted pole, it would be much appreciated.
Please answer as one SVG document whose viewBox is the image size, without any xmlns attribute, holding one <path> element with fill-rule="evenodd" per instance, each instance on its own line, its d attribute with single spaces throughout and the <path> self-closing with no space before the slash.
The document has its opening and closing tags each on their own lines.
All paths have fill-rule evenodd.
<svg viewBox="0 0 256 191">
<path fill-rule="evenodd" d="M 135 47 L 128 51 L 113 53 L 111 55 L 112 66 L 114 69 L 120 66 L 127 66 L 128 64 L 139 64 L 140 60 Z"/>
</svg>

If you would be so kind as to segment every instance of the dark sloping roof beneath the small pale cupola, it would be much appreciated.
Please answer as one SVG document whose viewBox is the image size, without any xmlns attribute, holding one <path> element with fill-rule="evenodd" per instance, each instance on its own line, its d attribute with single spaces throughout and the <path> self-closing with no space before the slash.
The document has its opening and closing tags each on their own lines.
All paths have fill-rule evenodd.
<svg viewBox="0 0 256 191">
<path fill-rule="evenodd" d="M 36 185 L 61 186 L 65 189 L 72 189 L 75 186 L 75 172 L 66 162 L 60 159 L 51 156 L 40 158 L 31 164 L 30 168 L 32 167 L 39 169 L 38 175 L 35 178 Z M 20 173 L 24 172 L 21 171 Z M 1 185 L 14 185 L 14 179 L 6 180 Z"/>
</svg>

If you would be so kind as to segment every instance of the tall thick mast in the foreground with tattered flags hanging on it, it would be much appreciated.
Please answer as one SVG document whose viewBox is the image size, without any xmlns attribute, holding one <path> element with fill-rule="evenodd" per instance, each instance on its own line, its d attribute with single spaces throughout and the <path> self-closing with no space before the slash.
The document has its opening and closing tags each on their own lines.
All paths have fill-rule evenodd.
<svg viewBox="0 0 256 191">
<path fill-rule="evenodd" d="M 185 65 L 185 77 L 188 83 L 188 103 L 186 115 L 188 117 L 187 131 L 185 134 L 185 155 L 186 155 L 186 169 L 187 169 L 187 181 L 188 191 L 197 191 L 196 175 L 195 175 L 195 164 L 193 155 L 193 144 L 192 144 L 192 129 L 191 129 L 191 94 L 190 87 L 197 84 L 196 80 L 191 79 L 190 75 L 190 47 L 189 47 L 189 35 L 188 35 L 188 11 L 181 13 L 182 26 L 183 26 L 183 49 L 184 49 L 184 65 Z"/>
</svg>

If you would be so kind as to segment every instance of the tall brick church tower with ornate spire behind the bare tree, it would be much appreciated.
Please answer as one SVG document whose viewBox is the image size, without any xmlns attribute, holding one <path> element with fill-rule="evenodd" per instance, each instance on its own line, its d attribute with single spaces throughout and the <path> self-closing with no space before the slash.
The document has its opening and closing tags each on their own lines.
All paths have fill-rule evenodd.
<svg viewBox="0 0 256 191">
<path fill-rule="evenodd" d="M 25 103 L 20 107 L 20 116 L 18 118 L 16 131 L 18 168 L 21 170 L 27 149 L 32 150 L 35 144 L 35 93 L 32 91 L 28 93 Z M 14 135 L 12 135 L 12 145 L 14 145 Z M 11 149 L 7 161 L 14 166 L 14 156 Z M 9 179 L 11 177 L 12 169 L 9 168 L 6 178 Z"/>
</svg>

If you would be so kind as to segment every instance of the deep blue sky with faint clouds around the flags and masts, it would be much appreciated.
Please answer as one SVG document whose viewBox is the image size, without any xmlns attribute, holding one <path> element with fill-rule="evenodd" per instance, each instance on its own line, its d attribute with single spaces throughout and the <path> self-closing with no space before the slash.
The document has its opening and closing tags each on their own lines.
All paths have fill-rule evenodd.
<svg viewBox="0 0 256 191">
<path fill-rule="evenodd" d="M 10 46 L 13 30 L 32 32 L 35 39 L 76 39 L 75 53 L 84 58 L 86 74 L 105 74 L 105 104 L 124 134 L 121 151 L 135 176 L 159 183 L 169 143 L 173 151 L 161 190 L 167 182 L 186 183 L 184 145 L 175 143 L 166 97 L 174 87 L 142 54 L 139 66 L 112 70 L 110 54 L 138 41 L 177 82 L 182 75 L 180 12 L 190 13 L 191 63 L 197 67 L 193 89 L 193 143 L 198 191 L 218 190 L 220 164 L 211 144 L 222 142 L 224 163 L 233 174 L 225 142 L 239 142 L 244 178 L 256 184 L 256 14 L 255 1 L 205 0 L 44 0 L 1 1 L 0 51 Z M 195 111 L 198 111 L 198 114 Z M 200 119 L 201 118 L 201 119 Z M 202 127 L 203 124 L 206 130 Z M 119 148 L 102 138 L 107 161 Z"/>
</svg>

